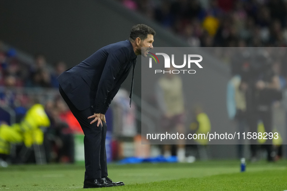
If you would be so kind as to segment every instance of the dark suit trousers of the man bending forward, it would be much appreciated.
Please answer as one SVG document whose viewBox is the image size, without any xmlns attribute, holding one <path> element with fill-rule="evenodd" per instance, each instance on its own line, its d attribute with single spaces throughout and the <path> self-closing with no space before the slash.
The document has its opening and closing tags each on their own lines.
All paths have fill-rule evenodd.
<svg viewBox="0 0 287 191">
<path fill-rule="evenodd" d="M 92 107 L 79 111 L 69 100 L 61 86 L 59 86 L 59 91 L 84 131 L 84 179 L 107 176 L 108 169 L 105 149 L 106 123 L 102 121 L 102 126 L 100 124 L 99 127 L 97 127 L 97 122 L 90 124 L 93 119 L 88 119 L 88 117 L 94 114 Z"/>
</svg>

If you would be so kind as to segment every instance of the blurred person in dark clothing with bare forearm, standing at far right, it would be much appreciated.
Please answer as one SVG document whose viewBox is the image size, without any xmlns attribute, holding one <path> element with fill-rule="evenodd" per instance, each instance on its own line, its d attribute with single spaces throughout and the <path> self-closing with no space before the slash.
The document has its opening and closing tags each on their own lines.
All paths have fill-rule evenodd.
<svg viewBox="0 0 287 191">
<path fill-rule="evenodd" d="M 272 132 L 272 102 L 282 98 L 279 77 L 272 69 L 271 57 L 266 48 L 257 48 L 251 62 L 242 75 L 241 87 L 246 90 L 247 121 L 252 133 L 257 133 L 258 121 L 263 122 L 265 132 Z M 275 153 L 272 139 L 267 139 L 264 147 L 268 161 L 273 161 Z M 257 139 L 251 139 L 252 160 L 257 159 Z"/>
</svg>

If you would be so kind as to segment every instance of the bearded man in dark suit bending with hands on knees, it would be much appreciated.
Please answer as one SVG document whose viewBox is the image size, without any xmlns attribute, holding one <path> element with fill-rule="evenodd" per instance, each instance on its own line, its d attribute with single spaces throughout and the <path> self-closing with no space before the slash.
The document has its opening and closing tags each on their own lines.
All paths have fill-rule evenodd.
<svg viewBox="0 0 287 191">
<path fill-rule="evenodd" d="M 136 56 L 147 57 L 154 35 L 147 25 L 135 25 L 129 40 L 99 49 L 57 78 L 60 94 L 84 131 L 84 188 L 124 185 L 107 177 L 105 112 L 132 66 L 134 80 Z"/>
</svg>

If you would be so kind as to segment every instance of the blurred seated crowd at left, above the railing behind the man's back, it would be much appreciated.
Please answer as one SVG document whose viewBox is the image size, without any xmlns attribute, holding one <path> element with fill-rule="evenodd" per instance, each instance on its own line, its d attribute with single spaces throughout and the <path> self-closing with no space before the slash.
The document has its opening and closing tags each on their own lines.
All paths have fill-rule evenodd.
<svg viewBox="0 0 287 191">
<path fill-rule="evenodd" d="M 34 63 L 24 63 L 14 48 L 4 51 L 0 45 L 0 86 L 57 88 L 56 78 L 65 70 L 61 61 L 51 68 L 43 54 L 35 55 Z"/>
</svg>

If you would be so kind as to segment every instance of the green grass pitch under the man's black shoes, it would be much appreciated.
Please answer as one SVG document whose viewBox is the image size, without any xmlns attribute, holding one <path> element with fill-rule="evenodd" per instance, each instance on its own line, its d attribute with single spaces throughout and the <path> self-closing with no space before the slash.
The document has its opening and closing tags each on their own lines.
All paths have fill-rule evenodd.
<svg viewBox="0 0 287 191">
<path fill-rule="evenodd" d="M 287 190 L 287 160 L 247 163 L 244 173 L 239 172 L 239 160 L 110 164 L 108 170 L 112 180 L 123 181 L 126 186 L 101 188 L 104 191 Z M 83 181 L 84 164 L 0 168 L 0 191 L 80 191 Z"/>
</svg>

